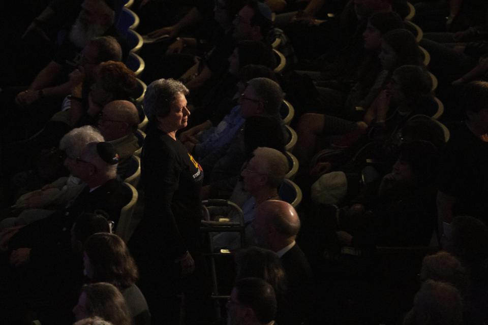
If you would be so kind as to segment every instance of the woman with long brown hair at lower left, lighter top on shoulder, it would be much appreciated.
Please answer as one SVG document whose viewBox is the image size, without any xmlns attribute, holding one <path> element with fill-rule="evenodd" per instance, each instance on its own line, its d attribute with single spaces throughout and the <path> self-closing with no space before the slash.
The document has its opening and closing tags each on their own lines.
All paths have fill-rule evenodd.
<svg viewBox="0 0 488 325">
<path fill-rule="evenodd" d="M 136 286 L 136 263 L 123 240 L 108 233 L 88 238 L 83 253 L 84 274 L 93 282 L 108 282 L 124 296 L 131 311 L 133 325 L 149 325 L 150 313 L 146 300 Z"/>
</svg>

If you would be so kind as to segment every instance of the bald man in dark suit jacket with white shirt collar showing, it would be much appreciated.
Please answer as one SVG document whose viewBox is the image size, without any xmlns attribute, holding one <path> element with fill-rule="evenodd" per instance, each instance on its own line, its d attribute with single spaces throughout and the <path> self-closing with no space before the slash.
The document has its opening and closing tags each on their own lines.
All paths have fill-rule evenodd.
<svg viewBox="0 0 488 325">
<path fill-rule="evenodd" d="M 278 306 L 277 322 L 299 324 L 310 314 L 314 281 L 307 257 L 295 242 L 300 230 L 298 214 L 287 202 L 268 200 L 256 209 L 252 227 L 256 244 L 276 252 L 285 269 L 286 306 Z"/>
</svg>

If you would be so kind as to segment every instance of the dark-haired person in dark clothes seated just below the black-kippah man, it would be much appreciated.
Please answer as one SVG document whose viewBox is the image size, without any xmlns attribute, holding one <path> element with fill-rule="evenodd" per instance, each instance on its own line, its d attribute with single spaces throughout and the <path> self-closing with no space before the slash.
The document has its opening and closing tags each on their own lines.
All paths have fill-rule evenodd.
<svg viewBox="0 0 488 325">
<path fill-rule="evenodd" d="M 73 224 L 71 245 L 68 241 L 52 247 L 54 259 L 32 255 L 31 262 L 20 265 L 22 254 L 12 256 L 13 264 L 19 266 L 2 276 L 6 281 L 3 295 L 9 295 L 2 298 L 2 323 L 16 323 L 20 317 L 26 321 L 33 320 L 27 317 L 35 317 L 50 324 L 72 323 L 71 308 L 83 282 L 83 243 L 94 233 L 108 231 L 104 215 L 84 213 Z"/>
</svg>

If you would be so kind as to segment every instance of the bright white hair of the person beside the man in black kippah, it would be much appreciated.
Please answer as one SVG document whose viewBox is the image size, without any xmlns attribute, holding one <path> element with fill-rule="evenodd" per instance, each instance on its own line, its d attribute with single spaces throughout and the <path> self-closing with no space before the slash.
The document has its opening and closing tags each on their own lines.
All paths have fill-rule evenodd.
<svg viewBox="0 0 488 325">
<path fill-rule="evenodd" d="M 70 154 L 81 155 L 81 150 L 90 142 L 104 141 L 100 132 L 90 125 L 77 127 L 68 132 L 59 142 L 59 149 L 69 150 Z"/>
</svg>

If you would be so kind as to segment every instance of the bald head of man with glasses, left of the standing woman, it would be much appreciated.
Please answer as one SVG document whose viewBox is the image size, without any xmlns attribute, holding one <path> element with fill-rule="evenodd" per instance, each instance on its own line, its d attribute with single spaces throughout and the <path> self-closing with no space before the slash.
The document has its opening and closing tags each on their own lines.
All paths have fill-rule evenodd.
<svg viewBox="0 0 488 325">
<path fill-rule="evenodd" d="M 104 106 L 98 128 L 106 141 L 123 138 L 134 132 L 139 123 L 137 108 L 129 101 L 113 101 Z"/>
</svg>

